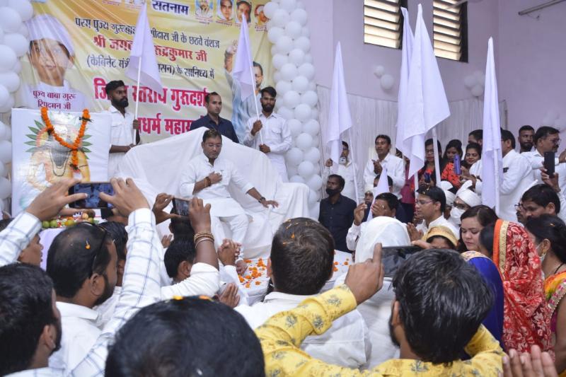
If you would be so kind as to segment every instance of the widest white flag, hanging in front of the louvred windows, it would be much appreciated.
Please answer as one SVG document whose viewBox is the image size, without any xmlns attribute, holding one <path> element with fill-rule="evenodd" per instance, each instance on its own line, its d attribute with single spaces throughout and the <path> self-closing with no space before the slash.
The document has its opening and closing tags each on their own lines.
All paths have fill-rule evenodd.
<svg viewBox="0 0 566 377">
<path fill-rule="evenodd" d="M 448 100 L 419 4 L 415 40 L 409 66 L 407 103 L 401 119 L 405 141 L 410 145 L 409 177 L 424 166 L 424 139 L 434 126 L 450 116 Z"/>
</svg>

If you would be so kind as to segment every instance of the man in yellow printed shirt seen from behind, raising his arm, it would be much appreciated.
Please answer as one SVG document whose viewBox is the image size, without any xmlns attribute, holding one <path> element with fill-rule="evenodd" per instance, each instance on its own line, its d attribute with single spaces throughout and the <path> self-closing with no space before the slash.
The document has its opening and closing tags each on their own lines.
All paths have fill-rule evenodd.
<svg viewBox="0 0 566 377">
<path fill-rule="evenodd" d="M 373 296 L 383 283 L 381 246 L 373 259 L 352 265 L 345 284 L 274 315 L 255 330 L 267 376 L 497 376 L 499 343 L 481 321 L 493 302 L 490 288 L 458 253 L 427 250 L 410 257 L 393 279 L 390 332 L 400 359 L 359 371 L 326 364 L 299 348 L 333 320 Z M 467 344 L 467 346 L 466 346 Z M 472 356 L 461 361 L 464 347 Z"/>
</svg>

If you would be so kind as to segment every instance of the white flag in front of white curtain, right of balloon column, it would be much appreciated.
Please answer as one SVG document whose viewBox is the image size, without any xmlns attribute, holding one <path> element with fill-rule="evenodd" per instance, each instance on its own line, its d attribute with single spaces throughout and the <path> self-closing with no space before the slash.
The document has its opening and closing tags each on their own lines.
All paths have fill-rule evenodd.
<svg viewBox="0 0 566 377">
<path fill-rule="evenodd" d="M 352 115 L 346 93 L 344 82 L 344 67 L 342 66 L 342 49 L 340 42 L 336 45 L 334 57 L 334 74 L 332 79 L 332 91 L 330 92 L 330 110 L 328 112 L 328 124 L 323 132 L 323 143 L 326 146 L 330 158 L 335 164 L 339 163 L 342 154 L 341 135 L 352 127 Z"/>
</svg>

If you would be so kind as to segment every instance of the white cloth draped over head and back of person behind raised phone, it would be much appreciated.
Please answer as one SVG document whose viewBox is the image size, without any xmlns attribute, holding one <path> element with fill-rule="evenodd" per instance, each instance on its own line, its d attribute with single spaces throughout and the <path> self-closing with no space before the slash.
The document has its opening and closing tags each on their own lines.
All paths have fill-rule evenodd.
<svg viewBox="0 0 566 377">
<path fill-rule="evenodd" d="M 356 263 L 363 263 L 374 256 L 376 243 L 383 247 L 410 245 L 407 226 L 397 219 L 379 216 L 367 222 L 356 246 Z M 334 286 L 344 284 L 346 274 L 336 279 Z M 389 336 L 389 318 L 391 303 L 395 293 L 391 289 L 391 279 L 383 280 L 383 287 L 374 296 L 361 303 L 357 310 L 362 314 L 369 328 L 371 340 L 371 356 L 367 369 L 374 368 L 383 361 L 397 359 L 399 349 L 391 342 Z"/>
</svg>

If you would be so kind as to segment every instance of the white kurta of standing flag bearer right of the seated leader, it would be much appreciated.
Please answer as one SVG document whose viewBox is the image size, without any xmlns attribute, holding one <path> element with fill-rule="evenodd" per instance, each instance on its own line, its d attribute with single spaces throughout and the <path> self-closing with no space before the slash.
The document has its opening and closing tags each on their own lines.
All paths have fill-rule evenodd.
<svg viewBox="0 0 566 377">
<path fill-rule="evenodd" d="M 276 112 L 272 112 L 269 117 L 265 117 L 263 113 L 260 113 L 262 129 L 253 136 L 252 128 L 253 122 L 256 121 L 255 118 L 250 117 L 248 119 L 246 137 L 243 139 L 243 144 L 253 149 L 260 149 L 260 144 L 269 146 L 271 151 L 267 153 L 267 157 L 270 158 L 273 166 L 279 171 L 283 182 L 289 182 L 284 157 L 285 152 L 291 148 L 291 132 L 287 126 L 287 120 Z"/>
</svg>

